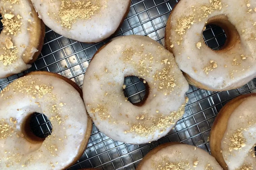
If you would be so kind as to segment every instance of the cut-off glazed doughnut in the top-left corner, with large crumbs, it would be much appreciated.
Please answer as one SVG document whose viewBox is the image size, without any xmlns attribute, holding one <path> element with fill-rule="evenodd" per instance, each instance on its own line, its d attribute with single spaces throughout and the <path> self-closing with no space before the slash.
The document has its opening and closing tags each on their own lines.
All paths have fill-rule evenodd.
<svg viewBox="0 0 256 170">
<path fill-rule="evenodd" d="M 31 67 L 43 46 L 45 26 L 30 0 L 1 0 L 0 78 Z"/>
</svg>

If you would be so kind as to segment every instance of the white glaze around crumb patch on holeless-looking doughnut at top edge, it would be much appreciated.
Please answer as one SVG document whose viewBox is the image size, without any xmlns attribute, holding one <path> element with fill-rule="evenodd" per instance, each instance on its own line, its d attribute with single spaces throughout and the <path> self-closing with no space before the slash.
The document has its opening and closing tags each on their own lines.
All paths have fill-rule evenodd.
<svg viewBox="0 0 256 170">
<path fill-rule="evenodd" d="M 61 25 L 60 20 L 51 17 L 59 13 L 61 0 L 31 0 L 39 18 L 56 33 L 80 42 L 100 42 L 118 29 L 130 5 L 130 0 L 80 0 L 81 2 L 99 3 L 100 9 L 90 19 L 77 20 L 71 29 Z M 77 0 L 72 0 L 76 2 Z M 50 14 L 48 14 L 50 13 Z"/>
</svg>

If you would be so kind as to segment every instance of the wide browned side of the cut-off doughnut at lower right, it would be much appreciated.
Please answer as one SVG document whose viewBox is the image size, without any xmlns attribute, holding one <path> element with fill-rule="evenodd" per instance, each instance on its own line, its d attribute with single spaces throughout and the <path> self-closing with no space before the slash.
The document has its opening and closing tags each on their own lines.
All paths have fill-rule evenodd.
<svg viewBox="0 0 256 170">
<path fill-rule="evenodd" d="M 224 170 L 227 170 L 227 164 L 225 163 L 222 153 L 221 153 L 221 140 L 227 129 L 228 119 L 233 113 L 233 111 L 246 99 L 256 96 L 256 93 L 241 95 L 230 102 L 228 102 L 218 113 L 213 127 L 210 132 L 210 148 L 211 154 L 219 162 Z"/>
</svg>

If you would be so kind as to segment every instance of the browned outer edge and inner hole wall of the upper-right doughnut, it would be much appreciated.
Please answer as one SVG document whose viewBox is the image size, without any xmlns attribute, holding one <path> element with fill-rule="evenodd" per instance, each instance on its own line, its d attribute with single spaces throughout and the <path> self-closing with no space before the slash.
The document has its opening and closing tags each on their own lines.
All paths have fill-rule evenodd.
<svg viewBox="0 0 256 170">
<path fill-rule="evenodd" d="M 183 8 L 182 6 L 179 6 L 179 3 L 174 6 L 174 8 L 171 11 L 170 16 L 167 20 L 167 23 L 166 23 L 164 42 L 165 42 L 166 49 L 169 50 L 171 53 L 172 53 L 172 48 L 170 46 L 172 45 L 172 43 L 169 40 L 169 37 L 171 37 L 171 29 L 172 29 L 171 17 L 172 17 L 172 13 L 175 12 L 175 9 L 179 8 L 179 7 Z M 216 25 L 222 27 L 222 29 L 225 31 L 225 34 L 227 35 L 227 40 L 226 40 L 225 45 L 219 51 L 215 51 L 216 53 L 227 53 L 227 52 L 231 51 L 232 48 L 236 44 L 240 43 L 239 34 L 238 34 L 237 30 L 235 29 L 235 26 L 230 23 L 227 16 L 225 16 L 225 15 L 214 16 L 207 21 L 207 24 L 216 24 Z M 203 30 L 202 30 L 202 32 L 203 32 Z M 237 87 L 234 87 L 231 89 L 229 87 L 222 89 L 222 90 L 212 89 L 212 88 L 204 86 L 202 83 L 196 81 L 195 79 L 190 77 L 185 72 L 183 72 L 183 75 L 185 76 L 185 78 L 187 79 L 189 84 L 191 84 L 192 86 L 198 87 L 200 89 L 205 89 L 205 90 L 210 90 L 210 91 L 227 91 L 227 90 L 231 90 L 231 89 L 240 88 L 240 86 L 237 86 Z"/>
</svg>

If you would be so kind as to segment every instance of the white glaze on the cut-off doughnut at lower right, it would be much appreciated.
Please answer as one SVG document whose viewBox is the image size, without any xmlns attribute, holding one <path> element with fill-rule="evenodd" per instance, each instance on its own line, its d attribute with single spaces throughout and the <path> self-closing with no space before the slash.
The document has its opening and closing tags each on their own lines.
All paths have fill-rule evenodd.
<svg viewBox="0 0 256 170">
<path fill-rule="evenodd" d="M 254 151 L 256 144 L 255 101 L 256 97 L 246 99 L 233 111 L 228 119 L 227 129 L 221 142 L 221 151 L 229 170 L 236 170 L 244 165 L 256 169 L 256 157 L 253 157 L 252 153 L 249 152 L 251 149 Z M 229 146 L 232 144 L 230 136 L 237 129 L 242 131 L 246 140 L 245 147 L 230 152 Z"/>
</svg>

